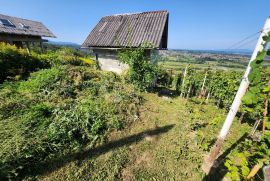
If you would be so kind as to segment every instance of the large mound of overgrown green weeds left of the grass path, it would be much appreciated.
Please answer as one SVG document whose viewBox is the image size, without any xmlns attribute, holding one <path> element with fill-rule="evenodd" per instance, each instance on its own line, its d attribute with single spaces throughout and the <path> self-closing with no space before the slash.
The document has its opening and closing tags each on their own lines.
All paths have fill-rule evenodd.
<svg viewBox="0 0 270 181">
<path fill-rule="evenodd" d="M 64 65 L 0 85 L 0 178 L 94 146 L 134 119 L 140 98 L 110 72 Z"/>
</svg>

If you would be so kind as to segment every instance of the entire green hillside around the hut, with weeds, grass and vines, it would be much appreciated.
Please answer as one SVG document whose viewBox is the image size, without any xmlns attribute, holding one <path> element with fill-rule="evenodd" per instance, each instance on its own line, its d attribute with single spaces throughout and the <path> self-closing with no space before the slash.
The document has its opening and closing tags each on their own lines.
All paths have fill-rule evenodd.
<svg viewBox="0 0 270 181">
<path fill-rule="evenodd" d="M 117 75 L 87 52 L 46 49 L 29 54 L 0 43 L 1 180 L 243 180 L 269 163 L 266 51 L 206 175 L 202 163 L 242 71 L 183 62 L 168 71 L 140 47 L 119 53 L 129 70 Z M 258 119 L 265 127 L 253 130 Z M 261 177 L 259 169 L 254 179 Z"/>
</svg>

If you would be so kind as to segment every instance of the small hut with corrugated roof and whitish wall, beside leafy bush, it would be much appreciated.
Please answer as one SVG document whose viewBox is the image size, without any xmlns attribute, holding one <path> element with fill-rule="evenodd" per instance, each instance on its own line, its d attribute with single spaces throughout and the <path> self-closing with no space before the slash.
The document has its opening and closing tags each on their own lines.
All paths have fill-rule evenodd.
<svg viewBox="0 0 270 181">
<path fill-rule="evenodd" d="M 128 66 L 117 59 L 117 50 L 138 48 L 145 42 L 154 47 L 146 50 L 148 56 L 167 49 L 168 21 L 168 11 L 105 16 L 90 32 L 82 48 L 93 50 L 102 70 L 121 73 Z"/>
</svg>

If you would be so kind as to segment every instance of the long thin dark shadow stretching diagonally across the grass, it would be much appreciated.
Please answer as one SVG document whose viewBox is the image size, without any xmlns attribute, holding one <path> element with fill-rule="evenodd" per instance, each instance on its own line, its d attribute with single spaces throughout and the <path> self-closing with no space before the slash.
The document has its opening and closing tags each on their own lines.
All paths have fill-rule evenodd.
<svg viewBox="0 0 270 181">
<path fill-rule="evenodd" d="M 80 165 L 80 163 L 83 160 L 91 159 L 93 157 L 97 157 L 99 155 L 107 153 L 111 150 L 114 150 L 123 146 L 129 146 L 136 142 L 140 142 L 144 139 L 145 135 L 155 136 L 159 134 L 164 134 L 168 132 L 169 130 L 171 130 L 173 127 L 174 125 L 167 125 L 167 126 L 153 129 L 153 130 L 146 130 L 138 134 L 134 134 L 125 138 L 121 138 L 116 141 L 106 143 L 96 148 L 83 150 L 81 152 L 77 152 L 73 154 L 68 154 L 66 156 L 62 156 L 57 159 L 50 160 L 48 162 L 40 163 L 39 165 L 36 165 L 33 168 L 31 168 L 31 171 L 28 173 L 25 173 L 23 177 L 48 174 L 73 161 L 77 161 L 77 164 Z"/>
</svg>

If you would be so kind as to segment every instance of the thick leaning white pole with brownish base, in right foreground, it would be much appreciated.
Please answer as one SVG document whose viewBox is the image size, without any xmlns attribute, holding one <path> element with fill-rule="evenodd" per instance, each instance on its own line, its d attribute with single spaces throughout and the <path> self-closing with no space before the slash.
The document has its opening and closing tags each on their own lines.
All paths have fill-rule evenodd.
<svg viewBox="0 0 270 181">
<path fill-rule="evenodd" d="M 270 17 L 268 17 L 268 19 L 265 22 L 264 28 L 261 32 L 261 35 L 258 39 L 257 45 L 253 51 L 253 54 L 251 56 L 251 59 L 249 61 L 248 67 L 246 69 L 246 72 L 243 76 L 243 79 L 241 81 L 241 84 L 239 86 L 239 89 L 236 93 L 236 96 L 234 98 L 234 101 L 231 105 L 231 109 L 227 115 L 227 118 L 223 124 L 223 127 L 217 137 L 217 141 L 215 143 L 215 145 L 213 146 L 213 148 L 211 149 L 209 155 L 205 158 L 204 163 L 202 165 L 202 169 L 205 173 L 209 173 L 217 156 L 219 155 L 221 146 L 227 136 L 227 134 L 229 133 L 230 127 L 232 125 L 233 119 L 235 118 L 235 115 L 239 109 L 239 106 L 241 104 L 241 99 L 242 97 L 245 95 L 247 88 L 249 86 L 249 80 L 248 80 L 248 75 L 251 72 L 251 62 L 254 61 L 257 57 L 257 54 L 263 50 L 264 46 L 263 46 L 263 36 L 265 36 L 270 30 Z"/>
</svg>

